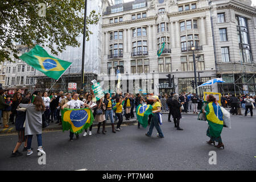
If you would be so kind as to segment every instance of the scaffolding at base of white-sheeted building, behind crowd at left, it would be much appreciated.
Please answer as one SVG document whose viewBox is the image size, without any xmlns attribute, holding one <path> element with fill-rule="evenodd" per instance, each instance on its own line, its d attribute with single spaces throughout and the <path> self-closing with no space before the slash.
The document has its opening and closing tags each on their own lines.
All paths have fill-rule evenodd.
<svg viewBox="0 0 256 182">
<path fill-rule="evenodd" d="M 68 73 L 62 75 L 59 80 L 47 76 L 33 76 L 36 79 L 36 84 L 32 87 L 30 92 L 39 90 L 40 92 L 68 92 L 68 82 L 77 83 L 77 92 L 80 92 L 81 89 L 84 89 L 85 92 L 88 92 L 92 86 L 92 80 L 97 80 L 97 75 L 95 73 L 85 73 L 84 74 L 84 86 L 81 88 L 81 73 Z M 54 84 L 54 85 L 53 85 Z M 53 86 L 52 86 L 53 85 Z M 49 90 L 51 89 L 51 90 Z"/>
</svg>

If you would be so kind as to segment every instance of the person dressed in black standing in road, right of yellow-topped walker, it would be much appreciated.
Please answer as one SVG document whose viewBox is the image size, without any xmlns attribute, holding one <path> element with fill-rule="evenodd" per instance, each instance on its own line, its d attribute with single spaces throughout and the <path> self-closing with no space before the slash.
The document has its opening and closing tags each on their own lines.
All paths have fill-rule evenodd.
<svg viewBox="0 0 256 182">
<path fill-rule="evenodd" d="M 171 102 L 171 108 L 172 108 L 172 118 L 174 118 L 174 127 L 177 128 L 177 130 L 183 130 L 180 128 L 180 119 L 181 119 L 181 105 L 183 105 L 184 102 L 179 102 L 179 95 L 174 94 L 174 97 L 172 97 Z"/>
</svg>

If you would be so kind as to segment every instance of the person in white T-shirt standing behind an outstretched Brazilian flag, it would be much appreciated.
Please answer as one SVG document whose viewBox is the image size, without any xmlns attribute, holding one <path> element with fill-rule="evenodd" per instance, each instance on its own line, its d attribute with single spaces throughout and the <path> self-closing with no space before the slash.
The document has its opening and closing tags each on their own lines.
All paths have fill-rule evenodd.
<svg viewBox="0 0 256 182">
<path fill-rule="evenodd" d="M 66 104 L 64 104 L 61 109 L 64 109 L 64 107 L 69 106 L 70 109 L 80 109 L 82 105 L 89 107 L 88 104 L 78 100 L 79 98 L 79 94 L 77 94 L 76 92 L 73 92 L 72 94 L 72 98 L 73 100 L 68 101 Z M 89 107 L 90 108 L 90 107 Z M 74 133 L 72 133 L 71 131 L 69 131 L 69 138 L 70 141 L 73 141 L 73 137 L 74 137 Z M 79 134 L 76 134 L 76 139 L 79 139 Z"/>
</svg>

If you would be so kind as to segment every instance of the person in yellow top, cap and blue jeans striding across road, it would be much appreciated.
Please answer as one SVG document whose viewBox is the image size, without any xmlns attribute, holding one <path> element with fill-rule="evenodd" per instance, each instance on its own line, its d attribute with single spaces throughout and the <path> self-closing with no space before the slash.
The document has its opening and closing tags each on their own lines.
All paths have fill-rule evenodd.
<svg viewBox="0 0 256 182">
<path fill-rule="evenodd" d="M 146 133 L 146 136 L 147 137 L 151 137 L 152 131 L 153 131 L 154 127 L 155 127 L 156 130 L 158 131 L 158 135 L 157 136 L 159 138 L 164 138 L 162 130 L 160 129 L 160 126 L 159 126 L 159 116 L 158 116 L 158 114 L 161 111 L 161 104 L 160 104 L 159 98 L 158 98 L 158 96 L 151 96 L 150 99 L 152 101 L 154 101 L 154 104 L 152 105 L 152 118 L 151 118 L 151 122 L 150 122 L 150 129 Z"/>
</svg>

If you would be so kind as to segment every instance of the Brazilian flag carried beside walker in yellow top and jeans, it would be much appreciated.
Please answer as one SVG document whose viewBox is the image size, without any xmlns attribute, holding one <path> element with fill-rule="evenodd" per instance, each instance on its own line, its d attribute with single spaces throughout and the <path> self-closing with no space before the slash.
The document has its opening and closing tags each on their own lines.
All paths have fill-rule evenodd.
<svg viewBox="0 0 256 182">
<path fill-rule="evenodd" d="M 139 123 L 146 128 L 148 125 L 148 115 L 152 113 L 152 106 L 151 105 L 138 105 L 136 108 L 136 115 Z"/>
</svg>

